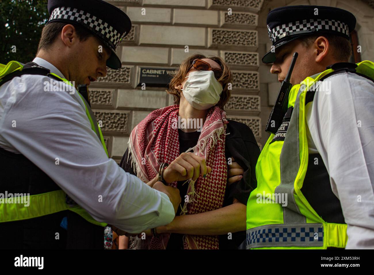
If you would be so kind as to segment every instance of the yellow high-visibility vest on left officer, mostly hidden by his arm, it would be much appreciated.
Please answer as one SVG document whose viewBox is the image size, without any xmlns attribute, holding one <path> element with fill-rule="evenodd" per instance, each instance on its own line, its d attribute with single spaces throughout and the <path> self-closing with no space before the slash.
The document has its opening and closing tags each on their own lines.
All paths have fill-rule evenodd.
<svg viewBox="0 0 374 275">
<path fill-rule="evenodd" d="M 4 83 L 4 77 L 11 76 L 10 74 L 17 74 L 18 72 L 21 73 L 22 68 L 24 65 L 17 61 L 10 61 L 6 65 L 0 64 L 0 86 Z M 68 85 L 71 85 L 71 83 L 64 78 L 61 78 L 60 76 L 54 74 L 54 73 L 48 73 L 47 76 L 50 76 L 52 78 L 55 78 L 56 80 L 63 81 Z M 101 142 L 105 153 L 108 155 L 107 148 L 105 146 L 105 141 L 102 136 L 102 132 L 100 127 L 98 126 L 98 123 L 96 121 L 95 115 L 93 114 L 91 108 L 89 107 L 87 101 L 85 98 L 82 97 L 81 94 L 77 91 L 74 93 L 74 97 L 77 97 L 77 95 L 82 99 L 83 105 L 81 101 L 79 101 L 77 98 L 75 98 L 79 104 L 81 104 L 82 107 L 86 110 L 86 115 L 91 123 L 91 129 L 94 131 Z M 85 220 L 89 221 L 90 223 L 99 225 L 99 226 L 106 226 L 107 223 L 101 223 L 96 221 L 91 217 L 91 215 L 85 211 L 82 207 L 79 205 L 70 206 L 66 204 L 66 193 L 63 190 L 56 190 L 52 192 L 37 194 L 37 195 L 31 195 L 28 199 L 28 202 L 30 202 L 28 207 L 25 207 L 24 204 L 18 204 L 18 203 L 4 203 L 4 200 L 2 199 L 0 201 L 0 223 L 1 222 L 8 222 L 8 221 L 18 221 L 18 220 L 26 220 L 26 219 L 32 219 L 36 217 L 41 217 L 53 213 L 57 213 L 59 211 L 64 210 L 70 210 L 77 214 L 79 214 L 81 217 L 83 217 Z M 20 197 L 20 201 L 23 201 L 23 199 Z"/>
</svg>

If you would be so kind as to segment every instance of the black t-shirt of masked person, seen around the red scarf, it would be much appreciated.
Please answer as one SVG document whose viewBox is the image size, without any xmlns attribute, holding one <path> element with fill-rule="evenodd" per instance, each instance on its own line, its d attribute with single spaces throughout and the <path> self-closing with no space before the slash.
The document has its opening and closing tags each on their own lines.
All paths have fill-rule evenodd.
<svg viewBox="0 0 374 275">
<path fill-rule="evenodd" d="M 230 134 L 228 134 L 230 133 Z M 180 154 L 186 152 L 189 148 L 194 147 L 199 140 L 200 132 L 183 132 L 178 129 Z M 226 129 L 225 155 L 226 159 L 234 158 L 234 160 L 243 167 L 243 178 L 226 188 L 223 207 L 233 203 L 236 198 L 242 204 L 246 205 L 249 194 L 257 186 L 255 177 L 255 166 L 260 149 L 258 148 L 255 137 L 251 129 L 240 122 L 229 120 Z M 128 149 L 122 157 L 120 166 L 130 174 L 135 175 L 134 169 L 130 163 L 127 163 Z M 184 205 L 184 198 L 187 195 L 188 182 L 178 181 L 177 188 L 180 190 L 181 205 Z M 177 216 L 180 215 L 180 207 Z M 237 249 L 237 247 L 245 240 L 245 231 L 232 233 L 232 239 L 227 234 L 218 236 L 218 244 L 220 249 Z M 183 234 L 171 233 L 166 249 L 183 249 Z"/>
</svg>

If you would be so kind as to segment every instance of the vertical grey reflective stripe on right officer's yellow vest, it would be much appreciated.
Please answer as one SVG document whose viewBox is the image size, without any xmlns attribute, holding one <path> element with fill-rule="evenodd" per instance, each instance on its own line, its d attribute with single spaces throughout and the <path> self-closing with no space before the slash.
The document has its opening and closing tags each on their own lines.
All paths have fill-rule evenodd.
<svg viewBox="0 0 374 275">
<path fill-rule="evenodd" d="M 281 183 L 275 188 L 275 193 L 287 194 L 287 206 L 283 207 L 283 222 L 285 224 L 306 223 L 306 217 L 300 213 L 294 198 L 294 183 L 300 168 L 299 97 L 301 92 L 300 89 L 297 93 L 294 110 L 292 111 L 286 137 L 282 146 L 280 156 Z"/>
</svg>

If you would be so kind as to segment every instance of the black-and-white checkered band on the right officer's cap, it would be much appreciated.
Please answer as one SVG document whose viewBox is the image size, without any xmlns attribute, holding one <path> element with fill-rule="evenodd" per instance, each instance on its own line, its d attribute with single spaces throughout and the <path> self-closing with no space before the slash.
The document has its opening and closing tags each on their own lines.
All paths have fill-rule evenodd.
<svg viewBox="0 0 374 275">
<path fill-rule="evenodd" d="M 348 26 L 346 24 L 340 21 L 329 19 L 309 19 L 282 24 L 273 28 L 272 30 L 270 30 L 269 25 L 267 26 L 267 28 L 270 40 L 272 40 L 273 43 L 283 37 L 292 36 L 295 34 L 308 33 L 311 32 L 313 29 L 315 29 L 316 31 L 338 31 L 349 37 Z"/>
</svg>

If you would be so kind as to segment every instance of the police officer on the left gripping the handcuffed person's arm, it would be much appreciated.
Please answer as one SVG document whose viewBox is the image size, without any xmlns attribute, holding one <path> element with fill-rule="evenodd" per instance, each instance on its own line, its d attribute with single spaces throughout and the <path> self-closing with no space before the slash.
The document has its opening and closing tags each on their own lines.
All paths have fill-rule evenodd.
<svg viewBox="0 0 374 275">
<path fill-rule="evenodd" d="M 144 184 L 108 158 L 89 98 L 76 90 L 121 68 L 115 51 L 130 19 L 101 0 L 49 0 L 48 10 L 33 62 L 0 71 L 1 248 L 103 248 L 106 223 L 129 233 L 170 223 L 178 189 L 158 177 Z M 161 180 L 209 172 L 191 155 Z"/>
</svg>

